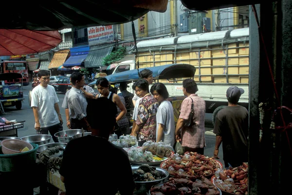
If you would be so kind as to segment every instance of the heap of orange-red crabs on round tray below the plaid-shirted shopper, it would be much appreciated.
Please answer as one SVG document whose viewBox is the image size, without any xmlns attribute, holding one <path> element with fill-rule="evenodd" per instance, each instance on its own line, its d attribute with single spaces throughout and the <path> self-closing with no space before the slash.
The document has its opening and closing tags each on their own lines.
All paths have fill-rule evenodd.
<svg viewBox="0 0 292 195">
<path fill-rule="evenodd" d="M 211 178 L 215 171 L 223 166 L 214 157 L 186 152 L 184 155 L 174 154 L 168 157 L 167 160 L 161 163 L 160 167 L 176 178 L 182 177 L 182 175 Z"/>
</svg>

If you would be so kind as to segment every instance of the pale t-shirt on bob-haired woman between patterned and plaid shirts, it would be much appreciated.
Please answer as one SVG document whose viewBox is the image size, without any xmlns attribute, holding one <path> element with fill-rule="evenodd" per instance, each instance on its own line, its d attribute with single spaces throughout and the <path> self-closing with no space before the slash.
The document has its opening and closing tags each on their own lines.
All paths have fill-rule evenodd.
<svg viewBox="0 0 292 195">
<path fill-rule="evenodd" d="M 156 114 L 156 137 L 158 135 L 158 124 L 164 125 L 162 141 L 165 145 L 170 144 L 172 147 L 175 140 L 175 122 L 173 115 L 173 107 L 168 100 L 164 100 L 158 107 Z M 161 140 L 156 140 L 161 141 Z"/>
</svg>

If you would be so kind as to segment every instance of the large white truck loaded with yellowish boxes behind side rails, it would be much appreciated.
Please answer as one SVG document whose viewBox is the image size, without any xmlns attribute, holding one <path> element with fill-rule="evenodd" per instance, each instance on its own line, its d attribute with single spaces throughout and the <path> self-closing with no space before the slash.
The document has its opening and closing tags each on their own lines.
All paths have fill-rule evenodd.
<svg viewBox="0 0 292 195">
<path fill-rule="evenodd" d="M 217 113 L 227 105 L 226 90 L 232 85 L 244 89 L 239 104 L 248 108 L 249 28 L 145 40 L 137 43 L 137 49 L 139 68 L 172 63 L 195 66 L 194 80 L 198 96 L 206 102 L 206 113 Z M 133 69 L 137 69 L 137 61 L 123 61 L 112 74 Z M 166 85 L 170 97 L 179 97 L 183 95 L 183 79 L 160 82 Z M 131 84 L 128 90 L 134 93 Z"/>
</svg>

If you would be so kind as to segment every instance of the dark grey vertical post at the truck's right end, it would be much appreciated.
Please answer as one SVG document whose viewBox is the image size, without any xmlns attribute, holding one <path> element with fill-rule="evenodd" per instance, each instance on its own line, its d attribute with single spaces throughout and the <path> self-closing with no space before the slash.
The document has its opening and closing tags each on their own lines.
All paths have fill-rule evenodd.
<svg viewBox="0 0 292 195">
<path fill-rule="evenodd" d="M 260 16 L 260 5 L 256 5 L 256 10 L 258 16 Z M 254 158 L 257 156 L 258 151 L 255 148 L 258 148 L 258 131 L 254 129 L 253 126 L 258 127 L 259 115 L 258 115 L 258 96 L 259 96 L 259 35 L 257 29 L 257 23 L 255 15 L 253 13 L 252 7 L 250 6 L 249 12 L 250 18 L 250 28 L 249 28 L 249 195 L 257 195 L 257 160 Z M 260 20 L 260 18 L 259 18 Z M 268 171 L 268 170 L 267 170 Z"/>
</svg>

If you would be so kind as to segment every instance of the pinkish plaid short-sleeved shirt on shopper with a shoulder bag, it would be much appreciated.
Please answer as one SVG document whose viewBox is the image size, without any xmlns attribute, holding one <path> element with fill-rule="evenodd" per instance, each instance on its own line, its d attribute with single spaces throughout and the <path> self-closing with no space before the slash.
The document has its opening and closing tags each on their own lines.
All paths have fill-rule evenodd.
<svg viewBox="0 0 292 195">
<path fill-rule="evenodd" d="M 191 113 L 192 98 L 194 101 L 194 120 L 196 125 L 183 127 L 182 146 L 190 148 L 203 148 L 205 142 L 205 101 L 197 94 L 191 94 L 183 100 L 180 118 L 188 119 Z"/>
</svg>

